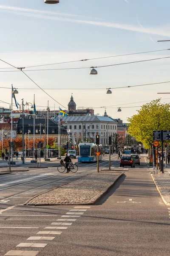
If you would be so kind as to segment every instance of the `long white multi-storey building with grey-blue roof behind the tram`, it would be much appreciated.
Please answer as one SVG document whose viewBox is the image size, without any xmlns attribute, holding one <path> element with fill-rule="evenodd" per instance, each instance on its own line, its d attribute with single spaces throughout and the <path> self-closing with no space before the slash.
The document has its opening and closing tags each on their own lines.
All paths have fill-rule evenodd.
<svg viewBox="0 0 170 256">
<path fill-rule="evenodd" d="M 117 121 L 109 116 L 67 116 L 62 118 L 64 125 L 74 145 L 80 142 L 96 142 L 96 135 L 100 136 L 100 143 L 108 146 L 108 137 L 117 133 Z"/>
</svg>

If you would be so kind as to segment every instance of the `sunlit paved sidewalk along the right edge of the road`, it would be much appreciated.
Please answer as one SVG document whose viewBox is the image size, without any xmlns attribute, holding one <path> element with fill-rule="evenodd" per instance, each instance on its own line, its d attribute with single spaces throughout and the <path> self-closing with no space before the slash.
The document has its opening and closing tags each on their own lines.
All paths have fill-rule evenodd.
<svg viewBox="0 0 170 256">
<path fill-rule="evenodd" d="M 145 158 L 147 166 L 149 165 L 149 159 Z M 149 166 L 148 166 L 149 167 Z M 164 168 L 164 173 L 160 172 L 158 169 L 158 174 L 153 173 L 153 167 L 149 170 L 152 170 L 151 176 L 153 178 L 153 182 L 156 185 L 156 189 L 158 190 L 164 204 L 170 205 L 170 164 L 167 164 L 167 168 Z"/>
</svg>

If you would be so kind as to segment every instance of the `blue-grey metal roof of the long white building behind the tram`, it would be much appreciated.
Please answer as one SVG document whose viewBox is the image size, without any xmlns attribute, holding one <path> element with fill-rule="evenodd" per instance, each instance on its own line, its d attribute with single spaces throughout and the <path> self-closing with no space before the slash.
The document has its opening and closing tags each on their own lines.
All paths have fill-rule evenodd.
<svg viewBox="0 0 170 256">
<path fill-rule="evenodd" d="M 63 122 L 115 122 L 110 116 L 67 116 L 62 118 Z"/>
</svg>

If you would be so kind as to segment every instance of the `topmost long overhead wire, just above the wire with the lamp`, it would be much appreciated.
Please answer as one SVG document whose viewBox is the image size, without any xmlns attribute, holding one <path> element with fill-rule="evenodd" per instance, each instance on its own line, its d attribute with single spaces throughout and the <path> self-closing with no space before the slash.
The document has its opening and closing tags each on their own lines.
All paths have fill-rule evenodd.
<svg viewBox="0 0 170 256">
<path fill-rule="evenodd" d="M 150 52 L 162 52 L 162 51 L 167 51 L 167 50 L 170 50 L 170 49 L 162 49 L 162 50 L 147 51 L 147 52 L 127 53 L 127 54 L 121 54 L 121 55 L 112 55 L 112 56 L 105 56 L 105 57 L 98 57 L 98 58 L 82 59 L 82 60 L 77 60 L 77 61 L 65 61 L 65 62 L 58 62 L 58 63 L 51 63 L 51 64 L 41 64 L 41 65 L 29 66 L 29 67 L 26 67 L 26 68 L 43 67 L 43 66 L 50 66 L 50 65 L 57 65 L 57 64 L 67 64 L 67 63 L 73 63 L 73 62 L 79 62 L 79 61 L 91 61 L 91 60 L 98 60 L 98 59 L 104 59 L 104 58 L 115 58 L 115 57 L 143 54 L 143 53 L 150 53 Z M 15 67 L 13 67 L 13 68 L 15 68 Z M 10 67 L 1 67 L 0 69 L 11 69 L 11 68 Z"/>
</svg>

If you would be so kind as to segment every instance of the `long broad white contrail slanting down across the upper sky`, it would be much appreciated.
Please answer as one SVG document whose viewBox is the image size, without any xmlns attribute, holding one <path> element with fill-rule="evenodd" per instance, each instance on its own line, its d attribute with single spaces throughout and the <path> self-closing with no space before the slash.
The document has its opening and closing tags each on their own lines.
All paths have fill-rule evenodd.
<svg viewBox="0 0 170 256">
<path fill-rule="evenodd" d="M 101 27 L 109 27 L 113 29 L 123 29 L 128 31 L 134 31 L 139 33 L 146 33 L 146 34 L 153 34 L 153 35 L 161 35 L 161 36 L 170 36 L 170 32 L 164 31 L 164 29 L 157 29 L 157 28 L 143 28 L 139 26 L 134 26 L 131 24 L 123 24 L 123 23 L 111 23 L 111 22 L 105 22 L 103 20 L 101 21 L 95 21 L 95 20 L 81 20 L 81 19 L 74 19 L 74 18 L 66 18 L 66 17 L 58 17 L 58 13 L 56 12 L 46 12 L 46 11 L 39 11 L 34 9 L 24 9 L 24 8 L 17 8 L 13 6 L 2 6 L 0 5 L 0 9 L 4 10 L 6 12 L 11 12 L 16 15 L 23 15 L 27 17 L 35 17 L 35 18 L 41 18 L 46 20 L 59 20 L 59 21 L 68 21 L 73 23 L 82 23 L 82 24 L 88 24 L 88 25 L 94 25 L 94 26 L 101 26 Z M 51 14 L 51 15 L 49 15 Z M 57 14 L 57 15 L 56 15 Z M 69 14 L 61 14 L 60 15 L 69 15 Z M 72 17 L 77 17 L 80 15 L 70 15 Z M 81 16 L 84 17 L 84 16 Z M 89 17 L 88 17 L 89 18 Z"/>
</svg>

